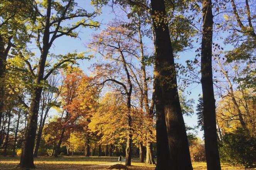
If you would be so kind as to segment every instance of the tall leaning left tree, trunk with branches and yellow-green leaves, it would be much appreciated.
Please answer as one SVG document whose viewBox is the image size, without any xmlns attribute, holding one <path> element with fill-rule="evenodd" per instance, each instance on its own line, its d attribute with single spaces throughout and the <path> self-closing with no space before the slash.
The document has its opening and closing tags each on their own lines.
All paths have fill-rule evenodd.
<svg viewBox="0 0 256 170">
<path fill-rule="evenodd" d="M 65 3 L 67 2 L 67 3 Z M 61 56 L 60 61 L 56 63 L 52 69 L 46 74 L 45 62 L 49 50 L 54 40 L 62 36 L 77 37 L 77 33 L 74 31 L 78 27 L 98 27 L 98 23 L 93 22 L 91 19 L 96 13 L 88 13 L 84 9 L 77 9 L 74 11 L 74 6 L 77 3 L 74 0 L 62 0 L 62 2 L 54 0 L 44 0 L 40 2 L 40 6 L 46 9 L 45 15 L 37 10 L 39 17 L 37 18 L 37 46 L 40 50 L 40 59 L 36 67 L 36 73 L 33 69 L 30 69 L 32 75 L 34 75 L 34 89 L 31 95 L 31 104 L 28 115 L 28 123 L 26 128 L 26 137 L 22 155 L 20 158 L 20 168 L 34 168 L 33 149 L 35 143 L 35 134 L 37 129 L 37 117 L 39 110 L 39 101 L 42 93 L 42 82 L 54 72 L 57 68 L 61 67 L 66 62 L 74 62 L 75 59 L 83 59 L 84 56 L 80 55 L 67 55 Z M 54 13 L 54 14 L 53 14 Z M 81 18 L 79 22 L 74 23 L 72 26 L 62 26 L 63 22 L 74 18 Z M 85 19 L 86 18 L 86 19 Z M 53 30 L 53 31 L 52 31 Z M 42 34 L 42 42 L 40 41 Z M 42 47 L 41 47 L 42 44 Z M 31 66 L 31 64 L 29 64 Z M 29 67 L 32 68 L 32 67 Z M 45 75 L 45 76 L 44 76 Z"/>
</svg>

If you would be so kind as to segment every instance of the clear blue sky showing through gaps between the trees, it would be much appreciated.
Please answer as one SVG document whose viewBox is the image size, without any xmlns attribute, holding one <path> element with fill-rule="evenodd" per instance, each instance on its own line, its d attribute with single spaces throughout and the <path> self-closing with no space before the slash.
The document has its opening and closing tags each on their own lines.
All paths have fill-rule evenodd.
<svg viewBox="0 0 256 170">
<path fill-rule="evenodd" d="M 81 2 L 79 6 L 89 10 L 93 11 L 94 8 L 90 7 L 88 2 L 84 2 L 82 0 L 79 0 L 78 2 Z M 87 5 L 87 6 L 85 6 Z M 111 8 L 109 7 L 103 7 L 102 9 L 102 14 L 96 17 L 94 20 L 101 22 L 101 27 L 98 30 L 93 30 L 90 28 L 80 28 L 79 30 L 79 38 L 70 38 L 70 37 L 61 37 L 59 39 L 56 39 L 54 42 L 54 46 L 52 46 L 50 52 L 51 53 L 56 53 L 56 54 L 66 54 L 69 52 L 77 51 L 77 52 L 84 52 L 87 51 L 86 49 L 86 43 L 89 42 L 91 39 L 91 35 L 93 33 L 99 33 L 101 30 L 104 29 L 105 25 L 109 22 L 111 22 L 115 18 L 115 14 L 111 12 Z M 146 40 L 148 41 L 148 40 Z M 150 42 L 145 42 L 145 43 L 150 43 Z M 179 53 L 179 60 L 177 62 L 183 63 L 185 65 L 185 61 L 189 59 L 193 59 L 196 55 L 195 49 L 197 49 L 200 46 L 200 38 L 198 43 L 194 43 L 194 48 L 190 50 L 186 50 L 185 52 Z M 91 60 L 83 60 L 79 61 L 80 67 L 84 70 L 85 73 L 88 73 L 88 67 L 91 66 L 92 63 L 97 62 L 97 57 L 92 58 Z M 195 101 L 194 104 L 194 109 L 195 106 L 197 105 L 197 100 L 199 98 L 199 94 L 201 94 L 201 85 L 200 84 L 192 84 L 187 88 L 187 91 L 190 91 L 191 94 L 186 94 L 188 98 L 193 98 Z M 52 112 L 54 113 L 54 111 Z M 194 127 L 197 125 L 197 117 L 196 115 L 192 115 L 191 117 L 184 117 L 185 123 L 187 125 Z M 198 130 L 198 136 L 200 138 L 203 137 L 203 132 Z"/>
</svg>

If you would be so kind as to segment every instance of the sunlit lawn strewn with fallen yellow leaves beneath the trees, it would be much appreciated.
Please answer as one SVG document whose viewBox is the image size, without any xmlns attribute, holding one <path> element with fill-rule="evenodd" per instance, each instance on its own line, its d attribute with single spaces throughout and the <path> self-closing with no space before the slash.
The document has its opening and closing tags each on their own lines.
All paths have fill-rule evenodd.
<svg viewBox="0 0 256 170">
<path fill-rule="evenodd" d="M 19 164 L 19 157 L 0 157 L 0 170 L 15 170 Z M 124 159 L 123 159 L 124 161 Z M 63 156 L 38 157 L 34 159 L 35 166 L 42 170 L 103 170 L 108 164 L 118 163 L 118 157 L 84 157 L 84 156 Z M 105 164 L 105 165 L 102 165 Z M 154 165 L 145 165 L 139 163 L 138 158 L 132 158 L 131 170 L 154 170 Z M 193 162 L 194 170 L 205 170 L 205 162 Z M 222 164 L 222 170 L 243 169 L 242 167 L 233 167 L 228 164 Z"/>
</svg>

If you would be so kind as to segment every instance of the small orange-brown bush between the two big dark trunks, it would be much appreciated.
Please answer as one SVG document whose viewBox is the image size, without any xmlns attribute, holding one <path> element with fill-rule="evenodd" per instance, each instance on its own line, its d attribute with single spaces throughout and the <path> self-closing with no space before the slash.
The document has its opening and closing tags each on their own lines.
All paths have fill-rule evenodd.
<svg viewBox="0 0 256 170">
<path fill-rule="evenodd" d="M 190 145 L 189 151 L 192 161 L 205 161 L 204 145 L 201 145 L 199 143 Z"/>
</svg>

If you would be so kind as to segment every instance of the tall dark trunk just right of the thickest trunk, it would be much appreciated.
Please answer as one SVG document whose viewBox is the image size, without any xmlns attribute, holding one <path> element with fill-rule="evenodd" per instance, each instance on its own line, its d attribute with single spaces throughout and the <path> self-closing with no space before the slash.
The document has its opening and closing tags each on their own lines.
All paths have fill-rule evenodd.
<svg viewBox="0 0 256 170">
<path fill-rule="evenodd" d="M 207 170 L 221 170 L 219 159 L 215 99 L 212 81 L 212 4 L 203 0 L 203 37 L 201 51 L 202 92 L 204 101 L 204 139 Z"/>
</svg>

